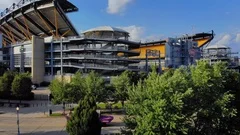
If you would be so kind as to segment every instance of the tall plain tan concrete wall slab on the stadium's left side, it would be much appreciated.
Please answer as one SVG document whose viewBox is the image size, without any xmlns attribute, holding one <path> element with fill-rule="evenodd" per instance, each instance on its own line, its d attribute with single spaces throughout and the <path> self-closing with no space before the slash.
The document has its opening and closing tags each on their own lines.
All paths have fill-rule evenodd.
<svg viewBox="0 0 240 135">
<path fill-rule="evenodd" d="M 41 83 L 44 81 L 44 39 L 32 36 L 32 82 Z"/>
</svg>

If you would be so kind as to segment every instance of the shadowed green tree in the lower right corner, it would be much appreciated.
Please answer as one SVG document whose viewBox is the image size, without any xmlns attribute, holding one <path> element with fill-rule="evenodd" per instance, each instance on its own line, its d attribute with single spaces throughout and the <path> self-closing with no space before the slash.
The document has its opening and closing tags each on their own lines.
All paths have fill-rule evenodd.
<svg viewBox="0 0 240 135">
<path fill-rule="evenodd" d="M 233 104 L 239 80 L 229 78 L 234 74 L 236 72 L 227 69 L 226 63 L 210 66 L 199 61 L 197 66 L 191 67 L 194 91 L 184 109 L 188 120 L 192 121 L 189 134 L 239 134 L 236 123 L 240 121 L 236 104 Z"/>
</svg>

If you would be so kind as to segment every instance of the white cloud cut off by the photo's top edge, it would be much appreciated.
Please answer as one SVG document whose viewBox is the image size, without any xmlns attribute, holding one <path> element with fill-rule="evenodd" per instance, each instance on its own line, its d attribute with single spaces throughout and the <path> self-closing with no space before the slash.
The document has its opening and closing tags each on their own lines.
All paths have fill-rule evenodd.
<svg viewBox="0 0 240 135">
<path fill-rule="evenodd" d="M 107 12 L 109 14 L 118 14 L 122 13 L 127 4 L 132 2 L 133 0 L 108 0 Z"/>
</svg>

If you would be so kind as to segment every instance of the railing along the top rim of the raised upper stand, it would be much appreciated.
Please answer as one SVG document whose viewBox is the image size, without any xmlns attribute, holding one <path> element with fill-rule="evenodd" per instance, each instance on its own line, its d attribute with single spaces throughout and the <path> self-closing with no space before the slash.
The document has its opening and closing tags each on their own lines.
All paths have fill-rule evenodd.
<svg viewBox="0 0 240 135">
<path fill-rule="evenodd" d="M 18 2 L 17 4 L 13 3 L 9 8 L 6 8 L 3 12 L 0 13 L 0 18 L 2 19 L 4 16 L 8 15 L 12 11 L 37 1 L 41 1 L 41 0 L 20 0 L 20 2 Z"/>
</svg>

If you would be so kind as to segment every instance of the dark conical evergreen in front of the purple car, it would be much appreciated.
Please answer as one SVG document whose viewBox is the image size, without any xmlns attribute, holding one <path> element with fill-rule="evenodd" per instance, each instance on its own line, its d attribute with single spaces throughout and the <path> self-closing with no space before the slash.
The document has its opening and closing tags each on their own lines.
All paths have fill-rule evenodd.
<svg viewBox="0 0 240 135">
<path fill-rule="evenodd" d="M 67 122 L 70 135 L 100 135 L 101 122 L 96 112 L 97 106 L 93 96 L 86 95 L 79 101 L 73 115 Z"/>
</svg>

